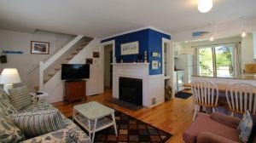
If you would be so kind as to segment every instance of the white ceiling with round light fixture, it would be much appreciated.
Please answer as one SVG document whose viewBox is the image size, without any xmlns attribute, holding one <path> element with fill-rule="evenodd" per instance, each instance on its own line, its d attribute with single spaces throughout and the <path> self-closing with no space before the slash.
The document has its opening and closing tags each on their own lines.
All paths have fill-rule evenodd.
<svg viewBox="0 0 256 143">
<path fill-rule="evenodd" d="M 154 26 L 177 33 L 256 17 L 256 0 L 213 0 L 201 14 L 198 0 L 1 0 L 0 28 L 35 29 L 90 37 Z M 246 23 L 246 22 L 245 22 Z"/>
</svg>

